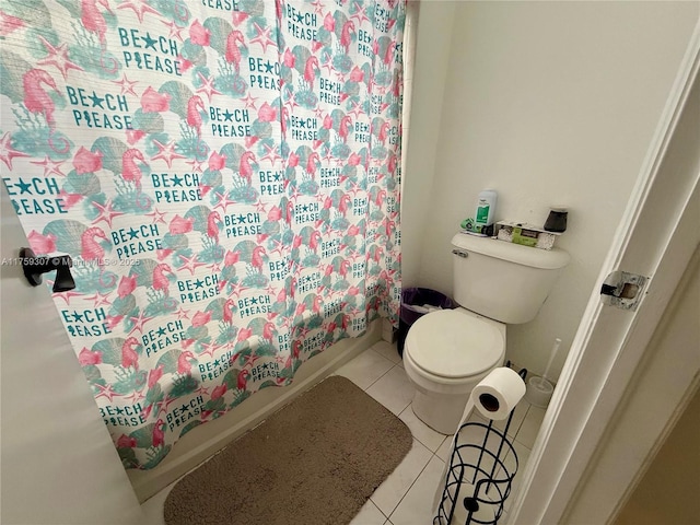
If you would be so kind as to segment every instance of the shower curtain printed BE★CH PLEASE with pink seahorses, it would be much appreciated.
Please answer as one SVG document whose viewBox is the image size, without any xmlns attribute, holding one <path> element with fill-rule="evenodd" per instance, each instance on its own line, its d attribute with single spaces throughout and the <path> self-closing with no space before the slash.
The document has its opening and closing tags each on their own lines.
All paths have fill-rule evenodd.
<svg viewBox="0 0 700 525">
<path fill-rule="evenodd" d="M 2 178 L 73 259 L 54 300 L 126 467 L 396 322 L 404 9 L 0 3 Z"/>
</svg>

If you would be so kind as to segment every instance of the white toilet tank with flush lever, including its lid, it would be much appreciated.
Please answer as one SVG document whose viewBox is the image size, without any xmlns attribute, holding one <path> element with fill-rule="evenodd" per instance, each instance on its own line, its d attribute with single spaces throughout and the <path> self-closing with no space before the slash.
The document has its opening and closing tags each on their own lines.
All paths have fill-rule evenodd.
<svg viewBox="0 0 700 525">
<path fill-rule="evenodd" d="M 454 299 L 505 324 L 528 323 L 569 264 L 567 252 L 457 233 L 452 237 Z"/>
</svg>

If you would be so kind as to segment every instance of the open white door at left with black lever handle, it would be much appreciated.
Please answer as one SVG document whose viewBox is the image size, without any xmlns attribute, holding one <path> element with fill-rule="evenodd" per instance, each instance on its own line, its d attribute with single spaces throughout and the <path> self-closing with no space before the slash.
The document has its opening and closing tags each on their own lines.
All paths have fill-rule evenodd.
<svg viewBox="0 0 700 525">
<path fill-rule="evenodd" d="M 0 523 L 141 523 L 49 291 L 32 288 L 14 264 L 28 243 L 0 186 Z"/>
</svg>

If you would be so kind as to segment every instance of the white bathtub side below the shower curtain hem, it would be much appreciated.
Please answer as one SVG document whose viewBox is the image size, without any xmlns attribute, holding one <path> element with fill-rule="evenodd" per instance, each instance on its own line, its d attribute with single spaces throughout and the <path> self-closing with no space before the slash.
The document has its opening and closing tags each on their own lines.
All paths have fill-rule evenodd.
<svg viewBox="0 0 700 525">
<path fill-rule="evenodd" d="M 305 362 L 294 382 L 284 387 L 265 388 L 219 419 L 184 435 L 163 462 L 152 470 L 127 470 L 141 503 L 196 468 L 243 433 L 291 402 L 348 361 L 382 338 L 382 320 L 372 323 L 362 337 L 343 339 Z"/>
</svg>

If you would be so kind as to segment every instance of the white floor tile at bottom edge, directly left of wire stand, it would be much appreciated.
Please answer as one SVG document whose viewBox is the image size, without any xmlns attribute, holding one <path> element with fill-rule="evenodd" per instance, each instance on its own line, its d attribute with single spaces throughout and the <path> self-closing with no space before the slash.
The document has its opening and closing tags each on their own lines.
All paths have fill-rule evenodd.
<svg viewBox="0 0 700 525">
<path fill-rule="evenodd" d="M 445 464 L 433 456 L 389 518 L 399 525 L 429 525 L 434 517 L 433 500 L 442 482 Z"/>
</svg>

